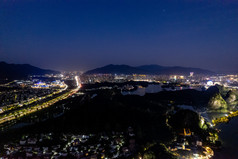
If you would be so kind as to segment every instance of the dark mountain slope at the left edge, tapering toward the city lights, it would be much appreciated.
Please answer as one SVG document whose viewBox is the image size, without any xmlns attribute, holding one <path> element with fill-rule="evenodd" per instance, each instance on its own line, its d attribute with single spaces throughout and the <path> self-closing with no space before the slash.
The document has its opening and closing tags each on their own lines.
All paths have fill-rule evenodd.
<svg viewBox="0 0 238 159">
<path fill-rule="evenodd" d="M 0 79 L 23 79 L 29 75 L 57 74 L 53 70 L 41 69 L 29 64 L 8 64 L 0 62 Z"/>
</svg>

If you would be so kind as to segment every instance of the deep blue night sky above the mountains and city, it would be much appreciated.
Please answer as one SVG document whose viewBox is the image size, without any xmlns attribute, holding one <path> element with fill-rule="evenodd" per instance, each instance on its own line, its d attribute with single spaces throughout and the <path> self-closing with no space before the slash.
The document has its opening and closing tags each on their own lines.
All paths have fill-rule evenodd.
<svg viewBox="0 0 238 159">
<path fill-rule="evenodd" d="M 238 72 L 238 0 L 0 0 L 0 61 Z"/>
</svg>

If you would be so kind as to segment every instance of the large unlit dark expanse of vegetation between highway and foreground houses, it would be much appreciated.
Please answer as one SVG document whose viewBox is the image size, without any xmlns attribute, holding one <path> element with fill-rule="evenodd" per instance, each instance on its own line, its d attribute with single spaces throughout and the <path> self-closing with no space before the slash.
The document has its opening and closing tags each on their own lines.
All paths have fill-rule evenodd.
<svg viewBox="0 0 238 159">
<path fill-rule="evenodd" d="M 175 105 L 180 102 L 180 98 L 184 100 L 181 104 L 196 103 L 196 100 L 192 100 L 195 96 L 200 97 L 194 90 L 183 93 L 160 92 L 143 97 L 123 96 L 118 89 L 85 92 L 84 95 L 57 103 L 58 107 L 63 105 L 62 116 L 54 118 L 52 114 L 56 109 L 52 106 L 22 119 L 23 122 L 31 122 L 48 116 L 46 121 L 10 129 L 2 133 L 0 139 L 3 144 L 12 138 L 19 139 L 23 134 L 97 134 L 112 131 L 125 132 L 128 127 L 132 127 L 135 133 L 133 138 L 136 141 L 134 156 L 173 158 L 174 155 L 165 145 L 170 144 L 181 130 L 190 129 L 204 141 L 209 132 L 213 131 L 208 129 L 208 126 L 206 129 L 201 128 L 200 116 L 197 113 L 180 110 Z"/>
</svg>

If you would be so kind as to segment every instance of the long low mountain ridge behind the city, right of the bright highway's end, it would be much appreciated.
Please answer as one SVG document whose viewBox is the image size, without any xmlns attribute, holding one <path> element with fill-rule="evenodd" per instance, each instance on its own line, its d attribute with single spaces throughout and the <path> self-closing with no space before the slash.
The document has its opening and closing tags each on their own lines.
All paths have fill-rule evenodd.
<svg viewBox="0 0 238 159">
<path fill-rule="evenodd" d="M 190 67 L 180 67 L 180 66 L 160 66 L 160 65 L 143 65 L 138 67 L 132 67 L 128 65 L 106 65 L 104 67 L 96 68 L 85 72 L 85 74 L 151 74 L 151 75 L 189 75 L 190 72 L 195 74 L 210 75 L 214 72 L 200 69 L 200 68 L 190 68 Z"/>
</svg>

